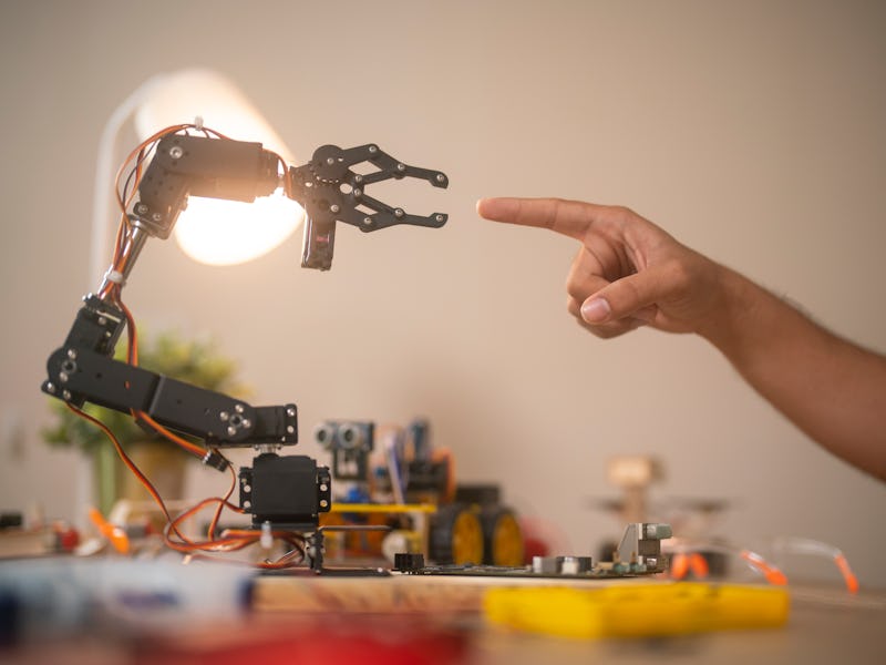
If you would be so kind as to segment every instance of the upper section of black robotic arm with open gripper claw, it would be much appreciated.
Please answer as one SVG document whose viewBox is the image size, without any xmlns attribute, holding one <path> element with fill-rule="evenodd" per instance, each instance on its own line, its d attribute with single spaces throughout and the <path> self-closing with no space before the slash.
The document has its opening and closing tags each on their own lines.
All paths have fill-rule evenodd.
<svg viewBox="0 0 886 665">
<path fill-rule="evenodd" d="M 410 215 L 365 193 L 372 183 L 390 178 L 415 177 L 435 187 L 449 185 L 444 173 L 409 166 L 378 145 L 348 150 L 323 145 L 310 162 L 290 166 L 284 175 L 278 174 L 278 162 L 260 143 L 168 134 L 157 144 L 142 178 L 133 213 L 150 235 L 167 238 L 189 195 L 251 202 L 282 186 L 308 214 L 301 266 L 321 270 L 332 265 L 336 222 L 363 232 L 396 224 L 436 228 L 446 223 L 443 213 Z M 363 162 L 377 171 L 361 175 L 352 170 Z"/>
</svg>

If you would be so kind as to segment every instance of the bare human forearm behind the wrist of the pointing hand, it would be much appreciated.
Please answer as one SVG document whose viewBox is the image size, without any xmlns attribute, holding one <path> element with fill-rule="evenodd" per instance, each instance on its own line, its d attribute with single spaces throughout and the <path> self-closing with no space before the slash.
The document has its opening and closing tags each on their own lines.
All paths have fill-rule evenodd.
<svg viewBox="0 0 886 665">
<path fill-rule="evenodd" d="M 886 479 L 886 358 L 727 268 L 720 289 L 722 307 L 698 332 L 810 437 Z"/>
</svg>

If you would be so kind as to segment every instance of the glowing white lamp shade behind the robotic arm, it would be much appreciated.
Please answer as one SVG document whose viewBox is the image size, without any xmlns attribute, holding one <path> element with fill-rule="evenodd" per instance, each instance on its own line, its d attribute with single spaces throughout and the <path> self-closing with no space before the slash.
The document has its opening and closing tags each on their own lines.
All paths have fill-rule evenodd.
<svg viewBox="0 0 886 665">
<path fill-rule="evenodd" d="M 159 76 L 135 110 L 141 140 L 174 124 L 203 124 L 237 141 L 255 141 L 293 163 L 289 149 L 234 83 L 206 69 Z M 255 203 L 190 196 L 179 215 L 175 237 L 182 249 L 202 263 L 229 265 L 270 252 L 301 223 L 305 211 L 281 192 Z"/>
</svg>

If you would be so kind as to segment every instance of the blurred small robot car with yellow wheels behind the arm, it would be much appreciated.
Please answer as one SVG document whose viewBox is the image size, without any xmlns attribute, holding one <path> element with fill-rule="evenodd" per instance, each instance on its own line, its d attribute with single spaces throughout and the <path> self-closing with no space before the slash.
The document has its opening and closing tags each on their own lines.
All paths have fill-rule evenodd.
<svg viewBox="0 0 886 665">
<path fill-rule="evenodd" d="M 339 534 L 330 560 L 391 563 L 405 549 L 436 565 L 524 562 L 519 521 L 502 504 L 498 487 L 456 485 L 452 453 L 432 447 L 430 429 L 424 419 L 381 428 L 383 461 L 370 468 L 372 422 L 329 420 L 317 426 L 315 440 L 332 453 L 333 478 L 350 482 L 350 491 L 336 495 L 321 524 L 378 531 Z"/>
</svg>

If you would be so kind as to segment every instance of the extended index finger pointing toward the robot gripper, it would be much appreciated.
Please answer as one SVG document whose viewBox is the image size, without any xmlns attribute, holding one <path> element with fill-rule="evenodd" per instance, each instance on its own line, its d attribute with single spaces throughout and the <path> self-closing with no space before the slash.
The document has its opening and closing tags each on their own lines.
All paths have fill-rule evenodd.
<svg viewBox="0 0 886 665">
<path fill-rule="evenodd" d="M 602 206 L 563 198 L 481 198 L 477 213 L 494 222 L 549 228 L 581 241 Z"/>
</svg>

